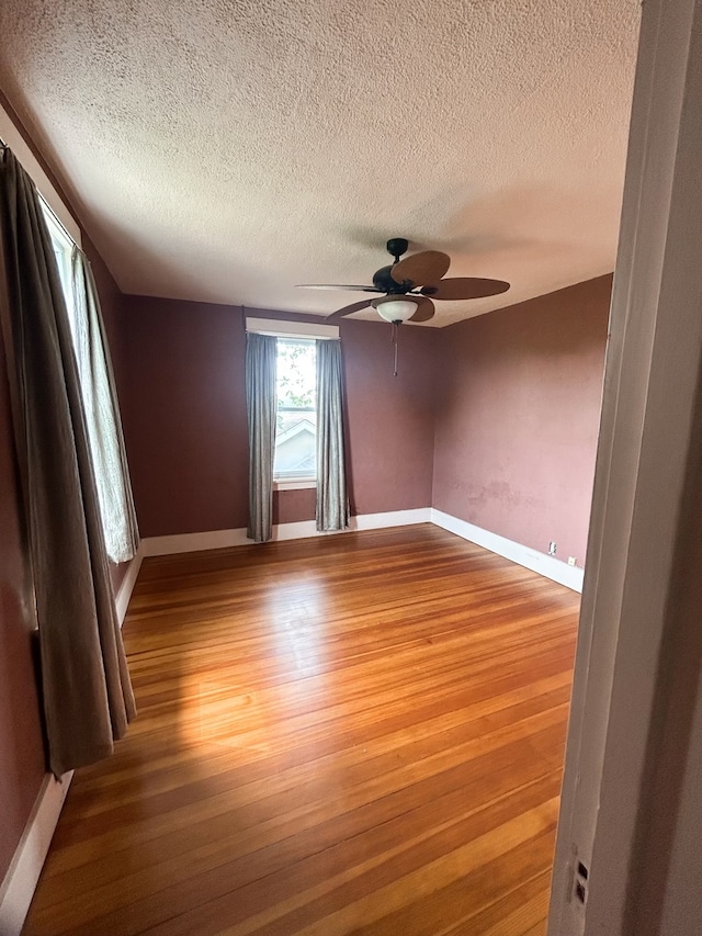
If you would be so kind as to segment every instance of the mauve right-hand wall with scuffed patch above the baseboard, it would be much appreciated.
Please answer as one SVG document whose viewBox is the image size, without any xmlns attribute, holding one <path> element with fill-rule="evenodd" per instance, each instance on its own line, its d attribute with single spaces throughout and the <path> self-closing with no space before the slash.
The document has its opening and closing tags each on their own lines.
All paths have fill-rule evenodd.
<svg viewBox="0 0 702 936">
<path fill-rule="evenodd" d="M 433 506 L 585 561 L 611 277 L 442 329 Z"/>
</svg>

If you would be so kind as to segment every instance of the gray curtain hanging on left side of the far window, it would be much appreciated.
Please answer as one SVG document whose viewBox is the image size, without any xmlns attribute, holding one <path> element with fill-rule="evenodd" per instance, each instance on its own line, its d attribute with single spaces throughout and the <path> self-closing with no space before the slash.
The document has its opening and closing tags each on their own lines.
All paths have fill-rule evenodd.
<svg viewBox="0 0 702 936">
<path fill-rule="evenodd" d="M 246 336 L 246 407 L 249 424 L 249 528 L 257 543 L 273 532 L 273 453 L 275 449 L 275 360 L 270 335 Z"/>
</svg>

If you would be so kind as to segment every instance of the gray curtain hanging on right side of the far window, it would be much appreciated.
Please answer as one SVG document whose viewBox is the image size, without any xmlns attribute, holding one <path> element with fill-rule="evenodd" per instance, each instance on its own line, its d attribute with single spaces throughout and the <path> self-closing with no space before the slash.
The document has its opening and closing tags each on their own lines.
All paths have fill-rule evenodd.
<svg viewBox="0 0 702 936">
<path fill-rule="evenodd" d="M 317 341 L 317 529 L 349 526 L 341 341 Z"/>
</svg>

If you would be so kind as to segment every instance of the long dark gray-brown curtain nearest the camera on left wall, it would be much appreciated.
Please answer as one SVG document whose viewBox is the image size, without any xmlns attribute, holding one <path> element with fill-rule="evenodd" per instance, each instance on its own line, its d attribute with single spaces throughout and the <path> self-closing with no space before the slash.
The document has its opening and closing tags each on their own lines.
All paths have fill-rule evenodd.
<svg viewBox="0 0 702 936">
<path fill-rule="evenodd" d="M 32 180 L 0 150 L 0 317 L 39 631 L 49 766 L 112 753 L 135 714 L 66 303 Z"/>
</svg>

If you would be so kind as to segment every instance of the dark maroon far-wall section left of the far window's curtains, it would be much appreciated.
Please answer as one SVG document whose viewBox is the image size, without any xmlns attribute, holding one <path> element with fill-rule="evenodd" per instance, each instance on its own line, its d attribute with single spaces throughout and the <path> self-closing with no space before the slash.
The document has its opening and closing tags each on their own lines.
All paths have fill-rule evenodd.
<svg viewBox="0 0 702 936">
<path fill-rule="evenodd" d="M 246 526 L 241 311 L 135 296 L 124 309 L 122 416 L 141 535 Z"/>
</svg>

